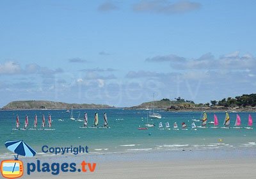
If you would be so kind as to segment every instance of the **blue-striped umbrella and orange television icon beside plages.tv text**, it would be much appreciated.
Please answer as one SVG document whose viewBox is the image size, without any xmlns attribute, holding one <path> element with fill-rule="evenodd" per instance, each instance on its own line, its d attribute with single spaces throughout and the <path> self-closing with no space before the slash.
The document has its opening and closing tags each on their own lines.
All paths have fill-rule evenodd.
<svg viewBox="0 0 256 179">
<path fill-rule="evenodd" d="M 4 178 L 20 178 L 23 175 L 24 167 L 22 161 L 18 159 L 19 155 L 33 157 L 36 152 L 24 141 L 7 141 L 5 146 L 17 155 L 14 155 L 14 160 L 3 160 L 1 162 L 1 174 Z"/>
</svg>

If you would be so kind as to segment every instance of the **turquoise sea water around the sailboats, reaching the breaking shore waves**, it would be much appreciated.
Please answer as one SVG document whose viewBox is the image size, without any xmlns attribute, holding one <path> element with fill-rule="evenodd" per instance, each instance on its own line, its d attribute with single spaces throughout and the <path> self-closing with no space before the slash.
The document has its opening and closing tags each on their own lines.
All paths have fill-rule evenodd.
<svg viewBox="0 0 256 179">
<path fill-rule="evenodd" d="M 81 120 L 83 120 L 83 113 L 85 111 L 88 113 L 88 123 L 91 126 L 95 110 L 73 110 L 74 118 L 77 118 L 79 111 L 81 112 Z M 87 145 L 90 153 L 123 153 L 140 150 L 211 150 L 217 148 L 255 149 L 256 147 L 256 126 L 254 123 L 252 130 L 244 128 L 198 128 L 191 130 L 192 120 L 200 119 L 201 112 L 170 113 L 159 111 L 162 119 L 152 120 L 156 127 L 138 130 L 139 126 L 145 126 L 148 111 L 122 109 L 96 111 L 99 113 L 99 126 L 103 125 L 103 112 L 106 111 L 111 128 L 79 128 L 83 122 L 70 121 L 70 113 L 65 113 L 65 110 L 0 111 L 0 155 L 10 154 L 4 146 L 5 141 L 20 139 L 23 139 L 38 153 L 42 152 L 43 145 L 53 147 Z M 16 114 L 19 114 L 21 127 L 24 125 L 25 115 L 28 114 L 29 128 L 33 127 L 35 114 L 38 115 L 38 125 L 42 122 L 42 114 L 45 114 L 46 123 L 48 114 L 51 114 L 52 128 L 55 130 L 12 130 L 15 128 Z M 213 120 L 213 114 L 207 113 L 208 121 Z M 220 126 L 222 126 L 225 113 L 216 114 Z M 230 113 L 230 127 L 234 126 L 236 114 Z M 256 119 L 256 113 L 239 113 L 243 127 L 247 125 L 248 114 L 252 114 L 253 120 Z M 159 130 L 158 123 L 160 121 L 164 126 L 169 121 L 171 127 L 175 121 L 179 127 L 184 121 L 188 125 L 188 130 Z M 195 123 L 200 125 L 200 122 Z"/>
</svg>

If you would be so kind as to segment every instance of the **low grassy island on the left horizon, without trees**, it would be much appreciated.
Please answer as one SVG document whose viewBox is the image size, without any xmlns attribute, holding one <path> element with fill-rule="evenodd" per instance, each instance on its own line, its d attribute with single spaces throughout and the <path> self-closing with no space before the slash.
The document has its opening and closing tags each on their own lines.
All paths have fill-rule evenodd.
<svg viewBox="0 0 256 179">
<path fill-rule="evenodd" d="M 64 102 L 52 102 L 46 100 L 25 100 L 13 101 L 5 105 L 2 109 L 106 109 L 111 108 L 104 104 L 68 104 Z"/>
</svg>

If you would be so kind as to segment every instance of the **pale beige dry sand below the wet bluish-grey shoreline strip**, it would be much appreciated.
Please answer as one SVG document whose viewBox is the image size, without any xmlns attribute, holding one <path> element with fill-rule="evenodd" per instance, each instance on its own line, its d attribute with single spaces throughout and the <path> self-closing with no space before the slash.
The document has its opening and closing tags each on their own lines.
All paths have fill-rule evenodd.
<svg viewBox="0 0 256 179">
<path fill-rule="evenodd" d="M 24 178 L 256 178 L 256 160 L 252 158 L 212 160 L 135 160 L 97 163 L 94 173 L 32 173 Z"/>
</svg>

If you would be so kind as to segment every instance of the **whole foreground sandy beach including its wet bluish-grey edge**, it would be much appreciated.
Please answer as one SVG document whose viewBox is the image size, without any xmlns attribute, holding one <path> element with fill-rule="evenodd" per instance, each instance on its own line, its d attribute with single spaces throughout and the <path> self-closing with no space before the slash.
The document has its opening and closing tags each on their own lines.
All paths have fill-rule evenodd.
<svg viewBox="0 0 256 179">
<path fill-rule="evenodd" d="M 94 173 L 32 173 L 25 178 L 255 178 L 255 151 L 149 152 L 87 157 L 50 157 L 42 162 L 97 162 Z M 229 155 L 225 155 L 229 153 Z M 234 153 L 234 154 L 232 154 Z M 236 156 L 237 153 L 241 155 Z M 202 155 L 202 156 L 203 156 Z M 216 157 L 214 157 L 216 155 Z M 166 157 L 164 157 L 166 156 Z M 76 159 L 74 159 L 76 158 Z M 94 159 L 94 160 L 93 160 Z M 30 159 L 31 162 L 35 159 Z"/>
</svg>

